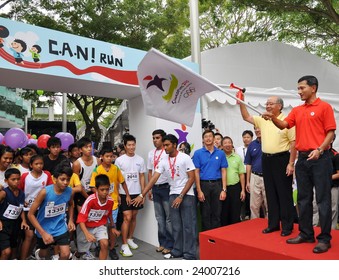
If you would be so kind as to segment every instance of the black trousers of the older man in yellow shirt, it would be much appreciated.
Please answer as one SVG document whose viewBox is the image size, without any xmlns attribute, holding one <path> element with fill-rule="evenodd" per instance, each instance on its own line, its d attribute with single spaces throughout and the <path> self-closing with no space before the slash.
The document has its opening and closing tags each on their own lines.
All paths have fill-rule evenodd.
<svg viewBox="0 0 339 280">
<path fill-rule="evenodd" d="M 278 155 L 262 155 L 262 170 L 268 207 L 268 227 L 292 230 L 295 208 L 292 197 L 293 175 L 286 175 L 288 152 Z"/>
</svg>

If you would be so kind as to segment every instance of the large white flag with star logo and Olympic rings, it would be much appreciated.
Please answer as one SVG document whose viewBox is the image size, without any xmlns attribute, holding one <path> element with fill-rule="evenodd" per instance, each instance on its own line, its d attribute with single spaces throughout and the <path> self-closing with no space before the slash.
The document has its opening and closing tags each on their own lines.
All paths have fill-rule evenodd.
<svg viewBox="0 0 339 280">
<path fill-rule="evenodd" d="M 221 90 L 156 49 L 142 59 L 137 76 L 147 115 L 188 126 L 193 125 L 198 99 Z"/>
</svg>

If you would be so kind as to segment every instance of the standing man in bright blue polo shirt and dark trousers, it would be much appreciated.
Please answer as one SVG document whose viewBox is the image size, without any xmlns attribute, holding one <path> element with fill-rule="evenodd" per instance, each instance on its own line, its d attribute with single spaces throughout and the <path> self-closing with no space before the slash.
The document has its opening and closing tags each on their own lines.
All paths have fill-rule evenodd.
<svg viewBox="0 0 339 280">
<path fill-rule="evenodd" d="M 227 192 L 227 159 L 224 151 L 214 146 L 214 137 L 213 131 L 205 130 L 204 147 L 193 156 L 203 231 L 220 227 L 221 201 L 226 199 Z"/>
</svg>

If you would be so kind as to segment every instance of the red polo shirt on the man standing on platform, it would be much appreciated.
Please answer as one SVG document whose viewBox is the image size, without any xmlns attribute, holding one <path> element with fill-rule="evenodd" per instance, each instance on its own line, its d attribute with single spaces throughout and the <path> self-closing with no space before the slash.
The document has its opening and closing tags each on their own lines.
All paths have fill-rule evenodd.
<svg viewBox="0 0 339 280">
<path fill-rule="evenodd" d="M 295 126 L 298 151 L 315 150 L 323 143 L 327 132 L 336 129 L 332 106 L 320 98 L 312 104 L 293 108 L 285 121 L 289 128 Z"/>
</svg>

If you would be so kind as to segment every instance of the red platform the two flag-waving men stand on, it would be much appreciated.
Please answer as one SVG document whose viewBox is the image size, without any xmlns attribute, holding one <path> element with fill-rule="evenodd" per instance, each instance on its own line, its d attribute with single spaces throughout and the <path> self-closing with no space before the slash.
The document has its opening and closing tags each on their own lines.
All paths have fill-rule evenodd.
<svg viewBox="0 0 339 280">
<path fill-rule="evenodd" d="M 201 260 L 339 260 L 339 230 L 332 230 L 332 248 L 323 254 L 312 252 L 316 243 L 287 244 L 286 239 L 298 235 L 298 225 L 292 234 L 281 237 L 280 231 L 263 234 L 266 219 L 254 219 L 235 225 L 201 232 Z M 320 228 L 315 228 L 315 235 Z"/>
</svg>

